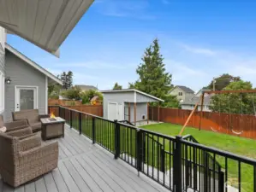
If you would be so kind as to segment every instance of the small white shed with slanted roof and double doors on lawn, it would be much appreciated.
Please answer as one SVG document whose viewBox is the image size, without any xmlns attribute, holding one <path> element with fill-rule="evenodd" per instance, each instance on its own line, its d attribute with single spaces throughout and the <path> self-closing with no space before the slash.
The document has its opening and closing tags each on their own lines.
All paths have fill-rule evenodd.
<svg viewBox="0 0 256 192">
<path fill-rule="evenodd" d="M 156 96 L 151 96 L 140 90 L 102 90 L 104 103 L 104 118 L 119 121 L 136 122 L 148 120 L 148 103 L 164 102 Z"/>
</svg>

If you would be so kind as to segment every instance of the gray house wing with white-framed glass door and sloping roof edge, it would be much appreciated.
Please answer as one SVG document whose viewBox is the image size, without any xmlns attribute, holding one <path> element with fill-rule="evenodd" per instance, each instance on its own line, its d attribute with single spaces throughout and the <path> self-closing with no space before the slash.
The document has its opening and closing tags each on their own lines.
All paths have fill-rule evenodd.
<svg viewBox="0 0 256 192">
<path fill-rule="evenodd" d="M 5 84 L 4 118 L 11 120 L 11 113 L 38 108 L 39 113 L 48 113 L 48 84 L 62 84 L 60 79 L 40 67 L 27 56 L 5 45 Z"/>
</svg>

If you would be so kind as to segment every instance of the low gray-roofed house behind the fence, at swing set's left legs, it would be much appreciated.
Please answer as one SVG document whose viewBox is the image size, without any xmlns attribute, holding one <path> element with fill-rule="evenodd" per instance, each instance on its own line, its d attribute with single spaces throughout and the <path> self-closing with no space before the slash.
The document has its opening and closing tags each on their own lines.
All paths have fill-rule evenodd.
<svg viewBox="0 0 256 192">
<path fill-rule="evenodd" d="M 196 103 L 200 101 L 200 97 L 202 96 L 202 92 L 206 91 L 205 89 L 199 90 L 192 98 L 185 99 L 184 102 L 181 103 L 182 109 L 187 109 L 187 110 L 193 110 L 195 107 Z M 203 104 L 203 111 L 210 112 L 211 109 L 209 108 L 211 105 L 211 96 L 209 94 L 205 94 L 204 97 L 204 104 Z M 201 110 L 201 103 L 199 103 L 198 110 Z"/>
</svg>

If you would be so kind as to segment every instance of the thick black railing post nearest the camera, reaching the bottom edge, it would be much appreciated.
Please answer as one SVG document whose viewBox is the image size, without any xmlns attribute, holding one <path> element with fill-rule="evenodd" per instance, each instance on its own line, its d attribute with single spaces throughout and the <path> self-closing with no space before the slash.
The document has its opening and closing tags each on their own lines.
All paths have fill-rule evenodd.
<svg viewBox="0 0 256 192">
<path fill-rule="evenodd" d="M 173 186 L 175 192 L 182 192 L 182 136 L 176 136 L 173 155 Z"/>
</svg>

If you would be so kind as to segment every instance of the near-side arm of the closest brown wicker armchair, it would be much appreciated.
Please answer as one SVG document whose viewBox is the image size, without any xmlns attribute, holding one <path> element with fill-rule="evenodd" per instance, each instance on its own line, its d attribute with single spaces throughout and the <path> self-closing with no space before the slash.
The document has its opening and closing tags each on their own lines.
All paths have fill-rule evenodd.
<svg viewBox="0 0 256 192">
<path fill-rule="evenodd" d="M 20 160 L 29 160 L 29 157 L 33 157 L 33 160 L 47 158 L 49 154 L 58 154 L 58 143 L 45 143 L 39 147 L 21 151 L 19 154 Z"/>
</svg>

